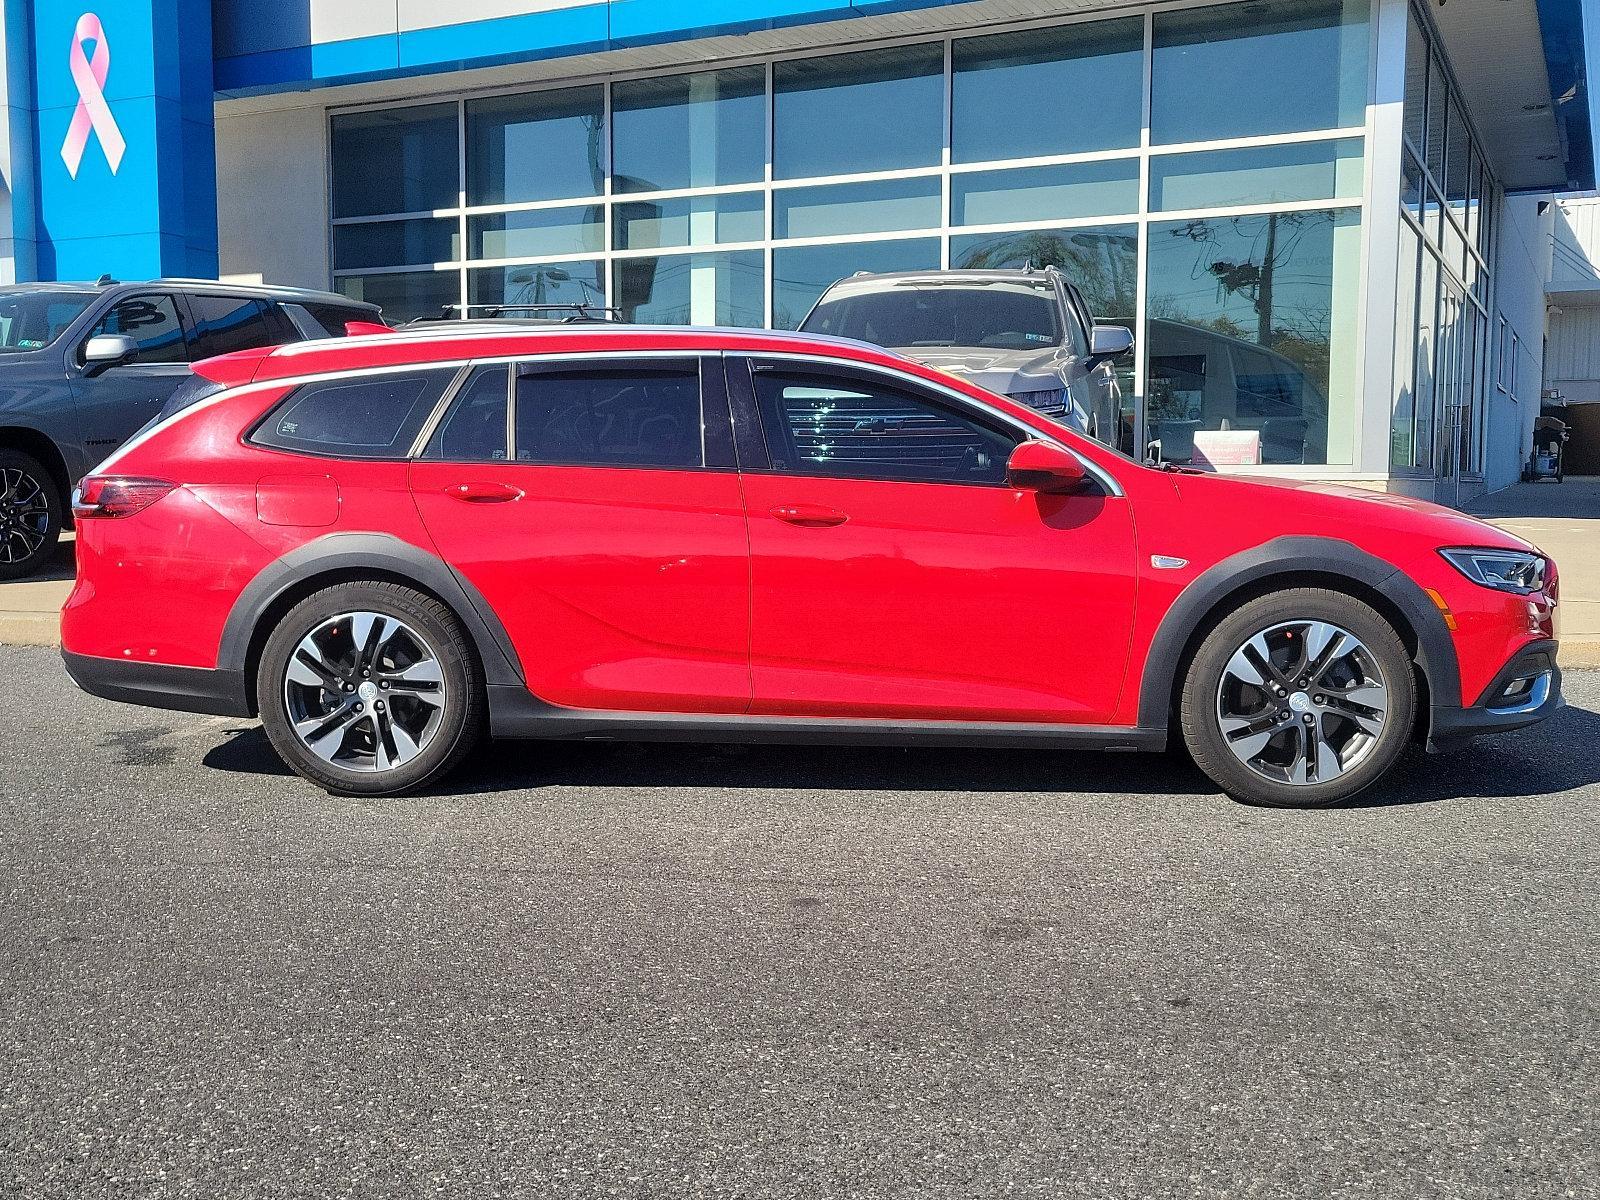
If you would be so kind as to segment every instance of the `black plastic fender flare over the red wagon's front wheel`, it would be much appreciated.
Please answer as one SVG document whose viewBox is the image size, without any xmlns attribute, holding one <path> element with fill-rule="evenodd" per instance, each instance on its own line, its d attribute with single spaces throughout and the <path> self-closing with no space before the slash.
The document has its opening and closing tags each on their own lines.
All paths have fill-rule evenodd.
<svg viewBox="0 0 1600 1200">
<path fill-rule="evenodd" d="M 1459 707 L 1461 664 L 1456 659 L 1456 643 L 1443 614 L 1408 574 L 1338 538 L 1274 538 L 1224 558 L 1179 592 L 1146 654 L 1139 683 L 1139 725 L 1168 728 L 1184 650 L 1230 592 L 1296 573 L 1344 576 L 1382 595 L 1411 626 L 1416 662 L 1427 678 L 1434 707 Z"/>
</svg>

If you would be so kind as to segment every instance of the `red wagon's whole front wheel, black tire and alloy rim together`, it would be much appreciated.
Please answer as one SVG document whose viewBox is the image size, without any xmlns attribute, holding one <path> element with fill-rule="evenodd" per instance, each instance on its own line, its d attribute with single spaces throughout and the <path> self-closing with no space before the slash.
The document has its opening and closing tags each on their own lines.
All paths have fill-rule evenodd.
<svg viewBox="0 0 1600 1200">
<path fill-rule="evenodd" d="M 1320 808 L 1371 787 L 1405 754 L 1416 677 L 1370 605 L 1296 589 L 1246 603 L 1206 635 L 1181 717 L 1195 763 L 1234 798 Z"/>
</svg>

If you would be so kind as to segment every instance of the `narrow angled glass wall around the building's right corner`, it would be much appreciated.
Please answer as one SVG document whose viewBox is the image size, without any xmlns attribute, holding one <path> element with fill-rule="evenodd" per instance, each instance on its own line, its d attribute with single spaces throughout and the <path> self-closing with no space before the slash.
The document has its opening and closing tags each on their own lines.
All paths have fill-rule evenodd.
<svg viewBox="0 0 1600 1200">
<path fill-rule="evenodd" d="M 1406 29 L 1405 146 L 1390 466 L 1438 478 L 1483 469 L 1499 189 L 1426 19 Z"/>
</svg>

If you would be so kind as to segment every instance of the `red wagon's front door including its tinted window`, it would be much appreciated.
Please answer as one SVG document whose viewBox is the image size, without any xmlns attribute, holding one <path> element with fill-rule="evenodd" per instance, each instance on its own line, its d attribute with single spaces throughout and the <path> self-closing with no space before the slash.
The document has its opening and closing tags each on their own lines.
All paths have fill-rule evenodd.
<svg viewBox="0 0 1600 1200">
<path fill-rule="evenodd" d="M 1008 486 L 1026 434 L 894 373 L 730 358 L 728 378 L 752 712 L 1110 718 L 1134 605 L 1125 498 Z"/>
</svg>

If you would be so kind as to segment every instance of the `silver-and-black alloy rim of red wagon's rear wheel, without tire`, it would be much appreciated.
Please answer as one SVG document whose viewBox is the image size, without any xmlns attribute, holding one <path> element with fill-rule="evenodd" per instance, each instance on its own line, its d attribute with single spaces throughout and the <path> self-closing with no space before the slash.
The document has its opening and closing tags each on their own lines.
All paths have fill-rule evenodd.
<svg viewBox="0 0 1600 1200">
<path fill-rule="evenodd" d="M 438 733 L 448 694 L 434 648 L 405 621 L 344 613 L 301 638 L 283 678 L 290 725 L 347 771 L 405 766 Z"/>
</svg>

